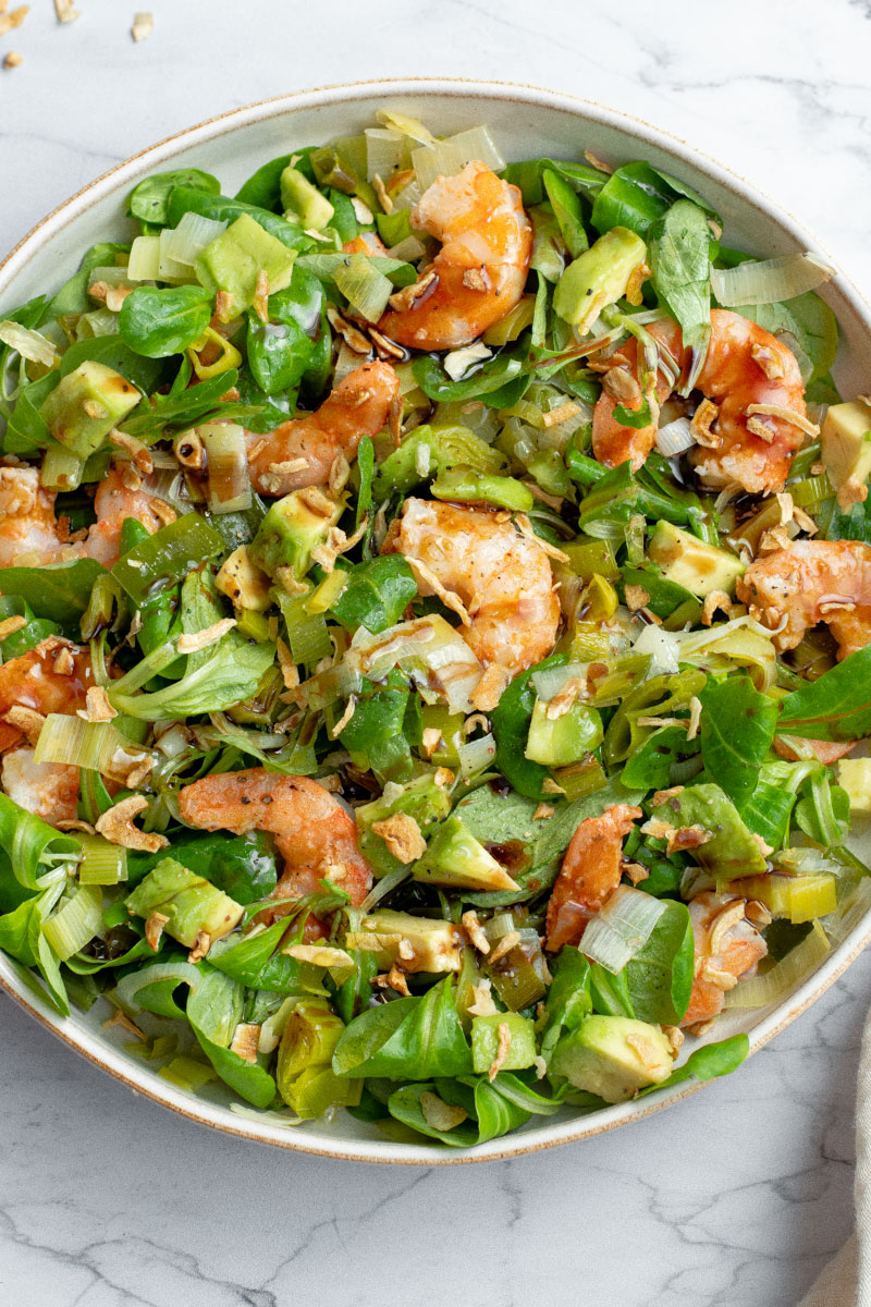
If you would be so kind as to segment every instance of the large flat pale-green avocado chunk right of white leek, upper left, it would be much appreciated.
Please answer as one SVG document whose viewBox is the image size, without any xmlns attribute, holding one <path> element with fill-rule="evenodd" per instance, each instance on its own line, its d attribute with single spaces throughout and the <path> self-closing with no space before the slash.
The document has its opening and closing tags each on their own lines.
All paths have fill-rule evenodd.
<svg viewBox="0 0 871 1307">
<path fill-rule="evenodd" d="M 295 250 L 270 235 L 249 213 L 243 213 L 226 231 L 202 250 L 193 268 L 201 286 L 215 294 L 231 295 L 227 319 L 249 308 L 257 291 L 257 278 L 265 272 L 269 294 L 285 290 L 293 276 Z"/>
</svg>

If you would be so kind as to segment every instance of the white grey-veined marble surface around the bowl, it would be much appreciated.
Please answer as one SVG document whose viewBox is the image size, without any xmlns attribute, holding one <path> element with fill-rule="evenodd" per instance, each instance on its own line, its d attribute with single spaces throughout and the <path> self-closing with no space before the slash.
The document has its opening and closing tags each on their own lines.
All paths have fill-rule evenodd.
<svg viewBox="0 0 871 1307">
<path fill-rule="evenodd" d="M 145 3 L 145 0 L 140 0 Z M 717 156 L 871 289 L 868 0 L 31 0 L 0 41 L 0 247 L 115 161 L 317 84 L 491 76 L 601 99 Z M 12 4 L 10 4 L 12 7 Z M 547 14 L 547 18 L 545 18 Z M 871 955 L 736 1076 L 555 1153 L 324 1162 L 132 1099 L 0 1000 L 0 1300 L 14 1307 L 791 1307 L 851 1225 Z"/>
</svg>

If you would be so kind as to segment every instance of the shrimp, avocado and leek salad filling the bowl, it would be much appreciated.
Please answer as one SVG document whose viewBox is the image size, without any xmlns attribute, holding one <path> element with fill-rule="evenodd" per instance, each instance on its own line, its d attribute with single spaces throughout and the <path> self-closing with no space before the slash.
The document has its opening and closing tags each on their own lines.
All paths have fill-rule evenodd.
<svg viewBox="0 0 871 1307">
<path fill-rule="evenodd" d="M 390 111 L 129 220 L 0 322 L 10 965 L 291 1127 L 734 1069 L 871 897 L 831 269 Z"/>
</svg>

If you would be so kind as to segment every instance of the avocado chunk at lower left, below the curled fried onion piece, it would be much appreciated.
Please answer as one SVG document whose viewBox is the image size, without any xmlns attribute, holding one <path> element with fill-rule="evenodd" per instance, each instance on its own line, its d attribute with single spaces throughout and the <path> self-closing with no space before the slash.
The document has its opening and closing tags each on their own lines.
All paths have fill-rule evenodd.
<svg viewBox="0 0 871 1307">
<path fill-rule="evenodd" d="M 166 933 L 187 949 L 193 948 L 200 931 L 205 931 L 212 942 L 219 940 L 232 931 L 244 911 L 229 894 L 195 876 L 174 857 L 163 857 L 128 894 L 125 903 L 131 916 L 161 912 L 168 919 L 163 927 Z"/>
</svg>

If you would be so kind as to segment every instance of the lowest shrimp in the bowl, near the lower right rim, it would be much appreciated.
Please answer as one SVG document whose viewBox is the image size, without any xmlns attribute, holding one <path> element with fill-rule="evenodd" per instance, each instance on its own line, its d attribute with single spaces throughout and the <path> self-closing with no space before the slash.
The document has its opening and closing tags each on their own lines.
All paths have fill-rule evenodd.
<svg viewBox="0 0 871 1307">
<path fill-rule="evenodd" d="M 744 916 L 744 899 L 729 894 L 699 894 L 688 904 L 696 963 L 692 995 L 682 1026 L 710 1021 L 722 1012 L 726 993 L 752 975 L 768 953 L 759 931 Z"/>
</svg>

